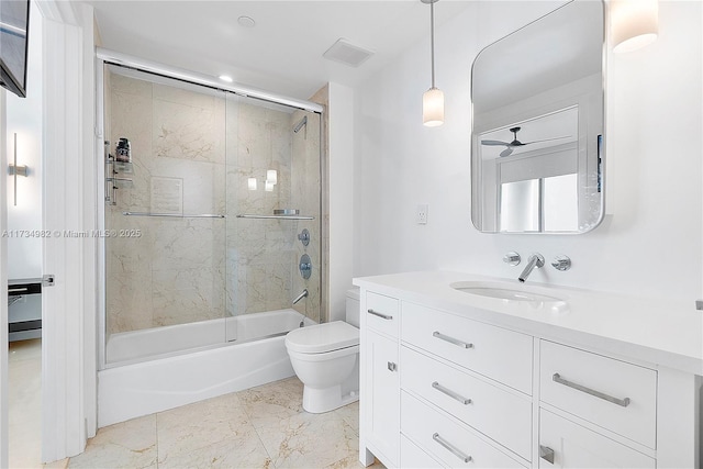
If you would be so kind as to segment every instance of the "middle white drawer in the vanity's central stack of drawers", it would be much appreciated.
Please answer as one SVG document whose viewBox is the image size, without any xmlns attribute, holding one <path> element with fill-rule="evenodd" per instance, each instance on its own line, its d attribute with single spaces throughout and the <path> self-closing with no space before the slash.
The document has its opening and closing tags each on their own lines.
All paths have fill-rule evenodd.
<svg viewBox="0 0 703 469">
<path fill-rule="evenodd" d="M 531 401 L 405 347 L 401 347 L 400 360 L 403 390 L 532 459 Z"/>
</svg>

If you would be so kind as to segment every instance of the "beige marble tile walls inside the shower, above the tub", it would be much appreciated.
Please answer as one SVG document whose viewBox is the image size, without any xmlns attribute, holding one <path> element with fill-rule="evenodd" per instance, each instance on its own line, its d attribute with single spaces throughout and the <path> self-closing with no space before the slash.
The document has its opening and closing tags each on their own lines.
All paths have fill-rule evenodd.
<svg viewBox="0 0 703 469">
<path fill-rule="evenodd" d="M 297 238 L 308 227 L 313 243 L 306 250 L 317 267 L 319 116 L 306 113 L 308 134 L 293 134 L 303 111 L 118 74 L 108 83 L 107 133 L 114 141 L 130 138 L 133 174 L 124 177 L 134 183 L 118 190 L 105 227 L 141 232 L 105 243 L 108 334 L 290 308 L 302 288 L 311 294 L 299 303 L 301 312 L 319 321 L 320 269 L 303 283 L 298 259 L 304 249 Z M 264 190 L 267 169 L 278 171 L 271 192 Z M 247 186 L 250 177 L 257 179 L 255 191 Z M 227 217 L 123 215 L 157 211 L 157 178 L 180 185 L 182 201 L 176 205 L 182 213 Z M 289 208 L 315 221 L 235 216 Z"/>
</svg>

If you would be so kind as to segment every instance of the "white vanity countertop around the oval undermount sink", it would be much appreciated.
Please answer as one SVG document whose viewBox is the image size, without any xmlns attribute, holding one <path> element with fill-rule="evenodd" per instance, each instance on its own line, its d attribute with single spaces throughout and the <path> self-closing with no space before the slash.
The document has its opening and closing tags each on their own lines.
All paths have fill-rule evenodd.
<svg viewBox="0 0 703 469">
<path fill-rule="evenodd" d="M 566 305 L 479 297 L 450 287 L 461 281 L 500 281 L 560 298 Z M 360 277 L 354 284 L 536 337 L 703 376 L 703 311 L 695 310 L 692 299 L 647 299 L 446 271 Z"/>
</svg>

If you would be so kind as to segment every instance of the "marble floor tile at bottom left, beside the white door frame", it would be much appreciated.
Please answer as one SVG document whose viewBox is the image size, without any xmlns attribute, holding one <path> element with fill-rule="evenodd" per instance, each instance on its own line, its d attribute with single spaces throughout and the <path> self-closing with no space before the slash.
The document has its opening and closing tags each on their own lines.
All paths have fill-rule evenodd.
<svg viewBox="0 0 703 469">
<path fill-rule="evenodd" d="M 68 467 L 150 468 L 156 467 L 156 414 L 152 414 L 98 429 Z"/>
</svg>

